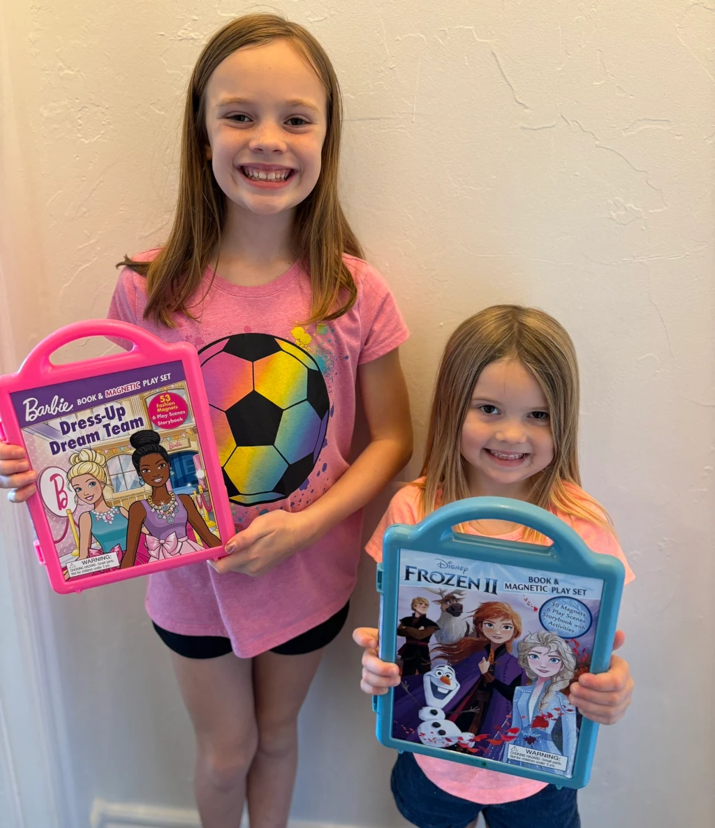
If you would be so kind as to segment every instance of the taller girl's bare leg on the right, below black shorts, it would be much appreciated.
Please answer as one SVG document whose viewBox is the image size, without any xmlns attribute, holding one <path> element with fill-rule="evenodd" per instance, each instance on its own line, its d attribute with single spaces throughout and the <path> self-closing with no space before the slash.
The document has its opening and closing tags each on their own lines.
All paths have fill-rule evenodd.
<svg viewBox="0 0 715 828">
<path fill-rule="evenodd" d="M 258 750 L 249 770 L 251 828 L 286 828 L 298 758 L 297 716 L 322 650 L 254 658 Z M 238 823 L 236 823 L 238 825 Z"/>
</svg>

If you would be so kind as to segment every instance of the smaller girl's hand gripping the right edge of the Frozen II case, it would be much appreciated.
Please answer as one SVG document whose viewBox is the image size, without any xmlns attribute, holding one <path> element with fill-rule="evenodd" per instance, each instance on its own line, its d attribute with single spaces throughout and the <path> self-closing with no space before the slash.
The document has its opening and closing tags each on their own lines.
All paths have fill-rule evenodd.
<svg viewBox="0 0 715 828">
<path fill-rule="evenodd" d="M 613 649 L 626 641 L 622 630 L 616 632 Z M 568 688 L 569 700 L 578 710 L 594 722 L 616 724 L 630 705 L 634 681 L 630 677 L 627 662 L 620 656 L 611 656 L 611 667 L 605 673 L 584 673 Z"/>
</svg>

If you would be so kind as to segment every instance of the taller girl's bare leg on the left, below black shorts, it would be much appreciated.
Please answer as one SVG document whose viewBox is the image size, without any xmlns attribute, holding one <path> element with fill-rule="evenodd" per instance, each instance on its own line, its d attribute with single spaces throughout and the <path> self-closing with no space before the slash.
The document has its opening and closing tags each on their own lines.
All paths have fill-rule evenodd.
<svg viewBox="0 0 715 828">
<path fill-rule="evenodd" d="M 239 828 L 258 744 L 251 660 L 233 653 L 200 659 L 172 652 L 172 664 L 196 733 L 194 791 L 201 826 Z"/>
</svg>

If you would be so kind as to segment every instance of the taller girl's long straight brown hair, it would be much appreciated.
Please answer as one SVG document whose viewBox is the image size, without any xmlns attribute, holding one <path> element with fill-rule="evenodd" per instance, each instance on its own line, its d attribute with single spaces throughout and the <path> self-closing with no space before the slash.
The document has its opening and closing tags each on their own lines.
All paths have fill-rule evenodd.
<svg viewBox="0 0 715 828">
<path fill-rule="evenodd" d="M 167 242 L 152 262 L 125 256 L 118 265 L 147 277 L 145 318 L 173 327 L 173 315 L 191 316 L 189 302 L 198 291 L 210 258 L 216 255 L 224 229 L 225 195 L 206 157 L 206 84 L 215 68 L 235 51 L 277 39 L 287 40 L 297 49 L 326 90 L 327 129 L 321 174 L 312 193 L 297 206 L 292 229 L 294 252 L 311 278 L 311 315 L 303 324 L 336 319 L 355 304 L 357 288 L 342 257 L 349 253 L 362 258 L 363 253 L 337 194 L 342 102 L 335 70 L 307 29 L 274 14 L 249 14 L 211 37 L 191 74 L 181 128 L 179 194 Z"/>
</svg>

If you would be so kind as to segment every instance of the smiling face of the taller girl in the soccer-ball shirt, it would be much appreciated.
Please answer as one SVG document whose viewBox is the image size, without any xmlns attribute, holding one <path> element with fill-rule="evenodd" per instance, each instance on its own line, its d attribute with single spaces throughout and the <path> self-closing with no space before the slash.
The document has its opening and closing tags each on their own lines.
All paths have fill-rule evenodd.
<svg viewBox="0 0 715 828">
<path fill-rule="evenodd" d="M 229 55 L 205 89 L 206 148 L 229 210 L 299 205 L 321 172 L 326 90 L 290 41 Z"/>
</svg>

